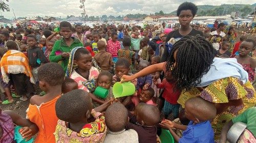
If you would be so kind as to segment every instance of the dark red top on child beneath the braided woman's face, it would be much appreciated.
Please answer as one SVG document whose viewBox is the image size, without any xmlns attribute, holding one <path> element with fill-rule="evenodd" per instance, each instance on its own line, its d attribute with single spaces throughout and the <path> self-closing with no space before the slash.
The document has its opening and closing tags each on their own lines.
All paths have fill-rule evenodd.
<svg viewBox="0 0 256 143">
<path fill-rule="evenodd" d="M 171 104 L 178 104 L 177 100 L 179 99 L 180 90 L 176 90 L 174 92 L 173 83 L 167 82 L 164 78 L 162 83 L 157 84 L 157 88 L 164 89 L 163 91 L 163 98 Z"/>
</svg>

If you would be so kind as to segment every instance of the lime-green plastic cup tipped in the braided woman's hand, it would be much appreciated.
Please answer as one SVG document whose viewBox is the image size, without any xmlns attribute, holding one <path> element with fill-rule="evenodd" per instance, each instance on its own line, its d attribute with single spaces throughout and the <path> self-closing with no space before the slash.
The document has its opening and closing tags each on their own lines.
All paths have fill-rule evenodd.
<svg viewBox="0 0 256 143">
<path fill-rule="evenodd" d="M 115 98 L 131 96 L 135 93 L 135 85 L 132 82 L 116 82 L 113 86 L 113 95 Z"/>
</svg>

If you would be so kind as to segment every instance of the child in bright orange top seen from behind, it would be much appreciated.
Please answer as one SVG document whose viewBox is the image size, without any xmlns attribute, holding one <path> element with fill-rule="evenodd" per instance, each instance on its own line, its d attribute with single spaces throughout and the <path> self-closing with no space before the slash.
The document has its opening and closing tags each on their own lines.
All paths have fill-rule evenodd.
<svg viewBox="0 0 256 143">
<path fill-rule="evenodd" d="M 40 89 L 46 92 L 46 95 L 31 97 L 27 109 L 27 119 L 39 128 L 35 138 L 36 143 L 55 142 L 53 133 L 58 121 L 55 103 L 61 95 L 61 84 L 64 75 L 62 68 L 57 63 L 47 63 L 38 69 Z"/>
</svg>

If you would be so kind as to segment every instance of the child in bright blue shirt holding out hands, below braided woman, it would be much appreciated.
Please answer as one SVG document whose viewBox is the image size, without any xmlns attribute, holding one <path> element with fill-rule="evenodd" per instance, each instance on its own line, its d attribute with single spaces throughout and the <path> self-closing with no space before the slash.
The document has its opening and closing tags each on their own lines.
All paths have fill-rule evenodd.
<svg viewBox="0 0 256 143">
<path fill-rule="evenodd" d="M 176 142 L 211 142 L 214 143 L 214 130 L 210 121 L 216 116 L 216 108 L 200 97 L 190 98 L 185 103 L 185 115 L 190 120 L 188 126 L 175 124 L 168 120 L 162 121 L 162 128 L 166 128 L 173 135 Z M 184 130 L 180 138 L 172 128 Z"/>
</svg>

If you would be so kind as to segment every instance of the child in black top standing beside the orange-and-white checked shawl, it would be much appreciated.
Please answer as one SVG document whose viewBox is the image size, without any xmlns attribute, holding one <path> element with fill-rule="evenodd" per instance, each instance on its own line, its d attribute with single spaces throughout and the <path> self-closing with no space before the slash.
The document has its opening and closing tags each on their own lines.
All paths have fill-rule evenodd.
<svg viewBox="0 0 256 143">
<path fill-rule="evenodd" d="M 37 69 L 40 67 L 41 64 L 48 63 L 48 60 L 44 52 L 42 52 L 42 50 L 36 46 L 36 37 L 34 35 L 30 34 L 27 36 L 27 43 L 29 46 L 29 49 L 27 50 L 29 65 L 32 68 L 33 76 L 35 77 L 35 80 L 37 82 Z"/>
</svg>

